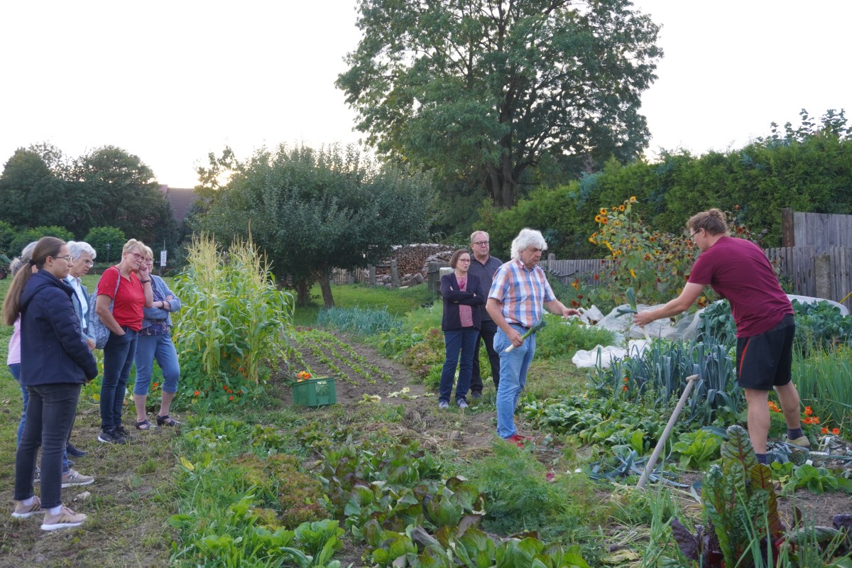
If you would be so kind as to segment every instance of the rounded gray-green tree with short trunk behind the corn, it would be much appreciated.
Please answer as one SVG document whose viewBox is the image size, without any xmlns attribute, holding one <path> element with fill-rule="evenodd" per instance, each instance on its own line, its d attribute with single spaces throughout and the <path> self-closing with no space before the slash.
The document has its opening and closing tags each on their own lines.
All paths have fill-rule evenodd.
<svg viewBox="0 0 852 568">
<path fill-rule="evenodd" d="M 334 305 L 332 268 L 377 264 L 394 245 L 427 236 L 429 181 L 393 164 L 379 168 L 354 146 L 279 146 L 246 162 L 226 149 L 210 158 L 199 169 L 209 203 L 195 228 L 223 243 L 251 232 L 278 278 L 320 283 L 325 307 Z M 308 300 L 305 290 L 299 301 Z"/>
</svg>

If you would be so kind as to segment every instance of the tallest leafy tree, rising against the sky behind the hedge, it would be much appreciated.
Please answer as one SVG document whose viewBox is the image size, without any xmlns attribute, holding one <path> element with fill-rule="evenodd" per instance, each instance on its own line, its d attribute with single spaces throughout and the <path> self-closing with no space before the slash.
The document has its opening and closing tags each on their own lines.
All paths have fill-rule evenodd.
<svg viewBox="0 0 852 568">
<path fill-rule="evenodd" d="M 628 0 L 361 0 L 337 86 L 385 156 L 515 204 L 525 173 L 571 155 L 636 158 L 659 26 Z"/>
</svg>

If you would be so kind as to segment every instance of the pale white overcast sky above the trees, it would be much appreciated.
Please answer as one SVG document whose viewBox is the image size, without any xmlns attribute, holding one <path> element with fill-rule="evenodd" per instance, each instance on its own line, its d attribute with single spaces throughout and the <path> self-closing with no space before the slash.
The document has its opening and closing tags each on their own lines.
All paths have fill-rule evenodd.
<svg viewBox="0 0 852 568">
<path fill-rule="evenodd" d="M 635 0 L 660 24 L 642 96 L 650 159 L 745 146 L 808 109 L 852 114 L 852 3 Z M 334 86 L 357 46 L 355 0 L 0 3 L 0 164 L 48 142 L 75 158 L 119 146 L 192 187 L 210 152 L 354 143 Z M 850 117 L 852 118 L 852 117 Z"/>
</svg>

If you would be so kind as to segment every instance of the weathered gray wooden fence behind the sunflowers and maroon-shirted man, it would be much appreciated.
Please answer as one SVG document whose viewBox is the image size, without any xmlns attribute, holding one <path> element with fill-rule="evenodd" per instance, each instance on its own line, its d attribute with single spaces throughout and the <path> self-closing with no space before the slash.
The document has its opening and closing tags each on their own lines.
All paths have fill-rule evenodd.
<svg viewBox="0 0 852 568">
<path fill-rule="evenodd" d="M 843 303 L 852 313 L 852 248 L 829 247 L 820 252 L 815 246 L 784 247 L 763 251 L 777 267 L 782 283 L 792 284 L 793 294 L 809 295 Z M 587 285 L 606 284 L 602 275 L 605 261 L 541 261 L 549 278 L 568 284 L 574 278 Z M 596 278 L 597 277 L 597 278 Z M 744 275 L 743 278 L 748 278 Z"/>
</svg>

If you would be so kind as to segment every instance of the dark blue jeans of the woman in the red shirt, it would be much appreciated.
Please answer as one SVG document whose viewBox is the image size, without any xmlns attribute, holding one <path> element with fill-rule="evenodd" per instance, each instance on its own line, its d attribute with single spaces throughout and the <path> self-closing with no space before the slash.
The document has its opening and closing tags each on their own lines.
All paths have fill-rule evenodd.
<svg viewBox="0 0 852 568">
<path fill-rule="evenodd" d="M 101 430 L 121 426 L 124 392 L 130 378 L 130 368 L 136 353 L 136 332 L 128 327 L 124 336 L 110 333 L 104 346 L 104 374 L 101 377 Z"/>
</svg>

